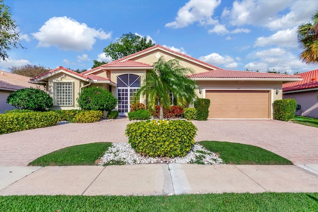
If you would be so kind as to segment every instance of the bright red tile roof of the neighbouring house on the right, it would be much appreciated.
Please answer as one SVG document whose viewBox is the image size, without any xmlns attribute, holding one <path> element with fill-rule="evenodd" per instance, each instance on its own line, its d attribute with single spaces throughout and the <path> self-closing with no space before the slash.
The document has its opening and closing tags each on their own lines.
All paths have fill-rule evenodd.
<svg viewBox="0 0 318 212">
<path fill-rule="evenodd" d="M 283 92 L 318 88 L 318 69 L 297 74 L 303 80 L 283 84 Z"/>
</svg>

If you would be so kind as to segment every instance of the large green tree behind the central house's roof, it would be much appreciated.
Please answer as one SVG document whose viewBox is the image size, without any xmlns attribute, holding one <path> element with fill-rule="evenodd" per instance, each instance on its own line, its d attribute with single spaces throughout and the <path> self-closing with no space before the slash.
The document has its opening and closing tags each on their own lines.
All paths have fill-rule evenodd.
<svg viewBox="0 0 318 212">
<path fill-rule="evenodd" d="M 118 60 L 154 45 L 151 39 L 147 42 L 147 37 L 140 37 L 129 32 L 128 34 L 123 34 L 114 43 L 110 43 L 109 46 L 104 48 L 104 53 L 112 60 Z"/>
</svg>

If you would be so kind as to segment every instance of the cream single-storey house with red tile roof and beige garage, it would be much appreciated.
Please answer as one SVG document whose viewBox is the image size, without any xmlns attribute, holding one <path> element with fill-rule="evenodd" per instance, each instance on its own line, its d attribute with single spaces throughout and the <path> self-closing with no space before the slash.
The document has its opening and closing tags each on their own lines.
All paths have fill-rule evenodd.
<svg viewBox="0 0 318 212">
<path fill-rule="evenodd" d="M 31 82 L 46 87 L 53 97 L 54 109 L 79 108 L 76 99 L 81 89 L 101 87 L 118 99 L 116 109 L 125 115 L 141 78 L 161 56 L 166 61 L 178 58 L 183 67 L 195 71 L 188 77 L 197 81 L 199 98 L 211 100 L 209 118 L 272 118 L 273 102 L 282 99 L 282 84 L 302 80 L 292 75 L 224 70 L 156 45 L 80 74 L 60 66 Z"/>
</svg>

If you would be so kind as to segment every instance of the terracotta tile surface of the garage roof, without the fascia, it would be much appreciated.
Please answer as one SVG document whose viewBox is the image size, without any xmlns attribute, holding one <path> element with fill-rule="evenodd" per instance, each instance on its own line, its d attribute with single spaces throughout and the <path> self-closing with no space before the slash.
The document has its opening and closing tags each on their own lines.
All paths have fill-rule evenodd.
<svg viewBox="0 0 318 212">
<path fill-rule="evenodd" d="M 273 73 L 262 73 L 262 72 L 248 72 L 248 71 L 232 71 L 232 70 L 212 70 L 193 74 L 188 77 L 191 78 L 291 78 L 297 79 L 299 76 L 286 75 L 286 74 L 273 74 Z"/>
</svg>

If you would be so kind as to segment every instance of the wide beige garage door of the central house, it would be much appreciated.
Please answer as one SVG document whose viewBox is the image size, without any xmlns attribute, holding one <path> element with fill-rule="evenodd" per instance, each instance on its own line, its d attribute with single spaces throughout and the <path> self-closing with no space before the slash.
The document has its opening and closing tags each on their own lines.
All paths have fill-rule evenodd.
<svg viewBox="0 0 318 212">
<path fill-rule="evenodd" d="M 207 90 L 209 118 L 268 118 L 269 91 Z"/>
</svg>

